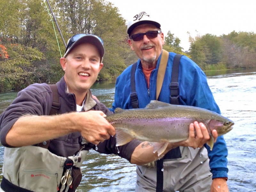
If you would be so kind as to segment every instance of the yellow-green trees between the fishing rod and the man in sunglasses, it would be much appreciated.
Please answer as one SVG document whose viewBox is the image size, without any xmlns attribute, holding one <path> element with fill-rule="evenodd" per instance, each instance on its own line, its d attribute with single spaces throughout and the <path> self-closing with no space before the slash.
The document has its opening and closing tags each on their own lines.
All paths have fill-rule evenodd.
<svg viewBox="0 0 256 192">
<path fill-rule="evenodd" d="M 113 4 L 104 0 L 57 0 L 55 6 L 56 11 L 62 10 L 57 16 L 64 21 L 61 28 L 68 31 L 66 39 L 76 33 L 95 34 L 103 39 L 105 56 L 100 80 L 116 78 L 130 64 L 125 63 L 125 56 L 131 52 L 125 43 L 125 20 Z"/>
</svg>

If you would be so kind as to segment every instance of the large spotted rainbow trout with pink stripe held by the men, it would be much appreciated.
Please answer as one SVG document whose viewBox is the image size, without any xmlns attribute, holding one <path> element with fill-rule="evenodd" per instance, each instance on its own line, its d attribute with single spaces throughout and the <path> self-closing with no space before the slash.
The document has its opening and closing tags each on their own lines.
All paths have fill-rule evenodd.
<svg viewBox="0 0 256 192">
<path fill-rule="evenodd" d="M 152 100 L 145 108 L 116 108 L 113 115 L 106 119 L 116 129 L 116 146 L 121 146 L 133 139 L 163 143 L 155 148 L 160 156 L 168 142 L 188 139 L 189 124 L 202 122 L 207 127 L 211 139 L 207 144 L 213 148 L 212 130 L 223 135 L 232 129 L 234 122 L 215 112 L 198 107 L 171 105 Z"/>
</svg>

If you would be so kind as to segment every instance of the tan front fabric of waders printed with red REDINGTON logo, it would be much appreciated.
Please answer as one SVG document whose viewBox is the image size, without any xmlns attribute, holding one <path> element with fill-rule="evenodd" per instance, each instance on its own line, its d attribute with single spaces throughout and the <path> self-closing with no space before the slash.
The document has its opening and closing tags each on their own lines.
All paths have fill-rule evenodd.
<svg viewBox="0 0 256 192">
<path fill-rule="evenodd" d="M 88 151 L 68 157 L 80 167 Z M 81 161 L 78 163 L 78 158 Z M 4 149 L 3 176 L 12 184 L 35 192 L 57 191 L 66 157 L 57 156 L 48 149 L 36 146 Z M 61 192 L 65 186 L 62 186 Z"/>
</svg>

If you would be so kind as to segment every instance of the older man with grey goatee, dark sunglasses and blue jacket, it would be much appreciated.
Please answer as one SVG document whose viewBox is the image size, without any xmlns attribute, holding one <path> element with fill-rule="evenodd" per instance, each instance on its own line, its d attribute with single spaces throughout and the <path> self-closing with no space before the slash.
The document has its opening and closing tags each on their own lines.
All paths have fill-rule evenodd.
<svg viewBox="0 0 256 192">
<path fill-rule="evenodd" d="M 168 53 L 162 89 L 159 97 L 156 98 L 158 86 L 156 80 L 159 75 L 164 44 L 164 34 L 160 27 L 160 23 L 146 12 L 140 12 L 128 21 L 128 41 L 139 60 L 135 64 L 135 73 L 132 73 L 132 66 L 129 66 L 117 78 L 113 110 L 117 107 L 133 108 L 133 99 L 131 100 L 130 97 L 132 86 L 136 88 L 140 108 L 144 108 L 150 100 L 158 99 L 171 103 L 170 83 L 173 60 L 176 55 L 173 52 Z M 179 104 L 196 106 L 220 113 L 207 84 L 206 76 L 195 62 L 182 56 L 179 72 L 176 73 L 179 76 L 177 82 L 179 85 Z M 131 85 L 131 78 L 135 78 L 135 85 Z M 137 166 L 136 192 L 228 191 L 226 182 L 228 151 L 223 137 L 218 137 L 211 151 L 209 146 L 204 144 L 209 139 L 205 127 L 201 127 L 200 130 L 197 122 L 194 125 L 197 133 L 194 142 L 190 138 L 189 144 L 180 143 L 180 147 L 172 149 L 164 157 L 163 178 L 161 178 L 161 171 L 160 173 L 157 172 L 158 166 L 153 168 Z M 212 132 L 212 134 L 216 136 L 217 133 Z"/>
</svg>

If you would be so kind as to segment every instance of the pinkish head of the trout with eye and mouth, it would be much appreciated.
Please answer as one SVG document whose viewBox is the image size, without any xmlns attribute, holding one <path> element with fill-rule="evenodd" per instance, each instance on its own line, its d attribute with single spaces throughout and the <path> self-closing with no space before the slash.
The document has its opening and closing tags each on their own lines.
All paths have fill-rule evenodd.
<svg viewBox="0 0 256 192">
<path fill-rule="evenodd" d="M 215 129 L 218 132 L 218 136 L 224 135 L 227 132 L 231 131 L 233 129 L 233 125 L 234 122 L 228 118 L 225 118 L 224 120 L 212 119 L 208 124 L 211 132 L 213 129 Z"/>
</svg>

